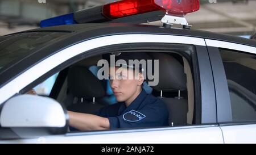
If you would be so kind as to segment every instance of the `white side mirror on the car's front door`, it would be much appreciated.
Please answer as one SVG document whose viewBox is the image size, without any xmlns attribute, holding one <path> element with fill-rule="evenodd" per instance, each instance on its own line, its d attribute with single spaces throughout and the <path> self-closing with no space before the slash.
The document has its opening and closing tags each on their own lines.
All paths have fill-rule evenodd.
<svg viewBox="0 0 256 155">
<path fill-rule="evenodd" d="M 3 105 L 0 124 L 2 131 L 10 133 L 6 130 L 9 129 L 20 138 L 64 134 L 68 131 L 68 114 L 51 98 L 19 95 Z M 11 134 L 7 137 L 1 135 L 4 135 L 0 136 L 1 139 L 14 138 Z"/>
</svg>

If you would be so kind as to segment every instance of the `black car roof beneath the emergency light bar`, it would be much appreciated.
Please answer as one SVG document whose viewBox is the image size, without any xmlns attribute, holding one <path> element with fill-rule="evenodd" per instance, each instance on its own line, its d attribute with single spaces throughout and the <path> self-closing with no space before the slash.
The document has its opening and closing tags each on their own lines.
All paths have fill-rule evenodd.
<svg viewBox="0 0 256 155">
<path fill-rule="evenodd" d="M 106 35 L 106 34 L 114 35 L 119 33 L 154 33 L 154 34 L 157 33 L 157 34 L 166 34 L 166 35 L 201 37 L 204 39 L 228 41 L 232 43 L 251 45 L 253 47 L 256 47 L 255 40 L 245 39 L 239 36 L 225 35 L 222 33 L 214 33 L 214 32 L 208 32 L 208 31 L 200 31 L 200 30 L 187 30 L 182 28 L 163 28 L 159 26 L 150 26 L 150 25 L 142 25 L 142 24 L 85 23 L 85 24 L 72 24 L 72 25 L 36 28 L 34 30 L 28 30 L 23 32 L 34 32 L 34 31 L 56 31 L 56 32 L 70 32 L 70 33 L 88 33 L 90 31 L 93 31 L 93 32 L 98 31 L 98 33 L 94 33 L 94 37 L 96 37 L 96 35 Z"/>
</svg>

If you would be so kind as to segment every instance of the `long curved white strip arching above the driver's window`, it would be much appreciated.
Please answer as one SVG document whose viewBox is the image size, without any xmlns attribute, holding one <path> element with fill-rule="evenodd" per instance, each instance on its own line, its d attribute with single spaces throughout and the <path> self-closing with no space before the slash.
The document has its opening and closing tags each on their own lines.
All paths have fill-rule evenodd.
<svg viewBox="0 0 256 155">
<path fill-rule="evenodd" d="M 79 55 L 80 53 L 89 51 L 94 48 L 123 43 L 180 43 L 205 46 L 204 39 L 197 37 L 172 35 L 112 35 L 87 40 L 82 43 L 73 45 L 72 47 L 63 49 L 55 55 L 46 58 L 46 60 L 39 62 L 31 69 L 28 69 L 26 72 L 20 74 L 20 76 L 13 79 L 13 81 L 7 83 L 0 89 L 0 104 L 12 97 L 14 94 L 18 93 L 24 87 L 26 87 L 28 83 L 35 81 L 39 77 L 43 76 L 43 74 L 47 73 L 49 70 L 60 65 L 64 61 L 67 61 L 69 58 L 72 58 Z"/>
</svg>

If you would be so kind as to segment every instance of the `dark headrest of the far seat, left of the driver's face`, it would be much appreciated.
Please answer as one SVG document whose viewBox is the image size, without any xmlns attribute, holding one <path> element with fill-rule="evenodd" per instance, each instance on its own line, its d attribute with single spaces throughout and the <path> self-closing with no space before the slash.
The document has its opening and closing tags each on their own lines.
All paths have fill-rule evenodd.
<svg viewBox="0 0 256 155">
<path fill-rule="evenodd" d="M 68 88 L 75 97 L 104 97 L 105 90 L 100 80 L 83 66 L 73 66 L 68 71 Z"/>
</svg>

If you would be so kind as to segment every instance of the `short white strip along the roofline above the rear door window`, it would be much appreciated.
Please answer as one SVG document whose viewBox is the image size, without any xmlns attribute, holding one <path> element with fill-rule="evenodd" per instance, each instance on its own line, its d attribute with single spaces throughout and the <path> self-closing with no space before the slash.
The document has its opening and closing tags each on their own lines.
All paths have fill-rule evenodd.
<svg viewBox="0 0 256 155">
<path fill-rule="evenodd" d="M 247 45 L 229 43 L 226 41 L 210 40 L 210 39 L 205 39 L 205 43 L 207 44 L 207 46 L 211 46 L 211 47 L 228 48 L 228 49 L 234 49 L 237 51 L 256 54 L 256 47 L 250 47 Z"/>
</svg>

